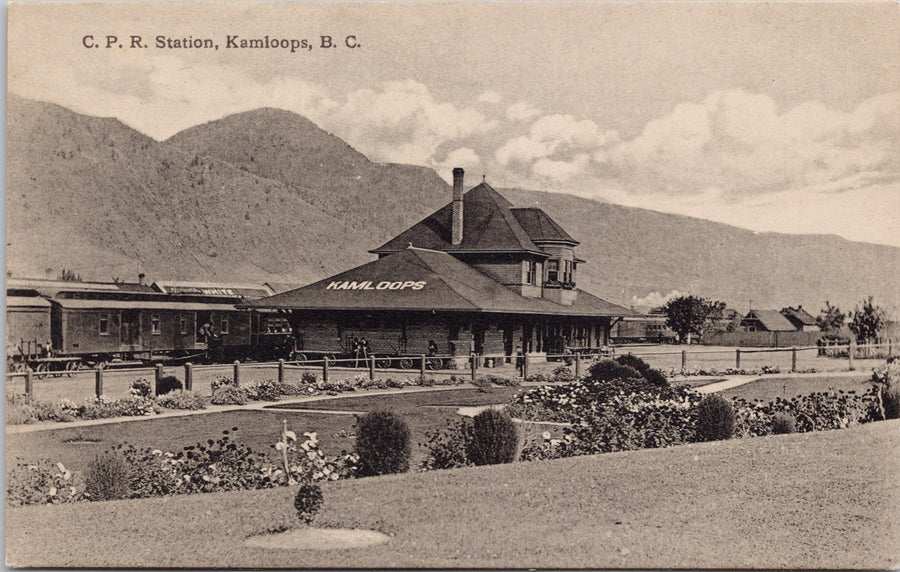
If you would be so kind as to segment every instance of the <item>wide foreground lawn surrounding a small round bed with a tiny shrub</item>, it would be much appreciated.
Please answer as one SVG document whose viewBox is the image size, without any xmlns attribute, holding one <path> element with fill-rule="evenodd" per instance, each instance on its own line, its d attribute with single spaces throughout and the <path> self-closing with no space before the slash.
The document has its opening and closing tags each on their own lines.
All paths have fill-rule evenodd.
<svg viewBox="0 0 900 572">
<path fill-rule="evenodd" d="M 161 433 L 158 432 L 158 433 Z M 7 511 L 7 564 L 851 568 L 900 564 L 900 421 L 325 485 L 317 524 L 384 545 L 251 548 L 292 489 Z"/>
</svg>

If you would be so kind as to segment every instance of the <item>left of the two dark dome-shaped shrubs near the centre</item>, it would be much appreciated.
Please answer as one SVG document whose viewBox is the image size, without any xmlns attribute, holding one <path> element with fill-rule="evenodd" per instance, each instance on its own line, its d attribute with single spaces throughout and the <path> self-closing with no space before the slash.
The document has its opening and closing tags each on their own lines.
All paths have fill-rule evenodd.
<svg viewBox="0 0 900 572">
<path fill-rule="evenodd" d="M 362 477 L 408 471 L 412 454 L 409 426 L 391 411 L 367 413 L 357 420 L 356 454 Z"/>
</svg>

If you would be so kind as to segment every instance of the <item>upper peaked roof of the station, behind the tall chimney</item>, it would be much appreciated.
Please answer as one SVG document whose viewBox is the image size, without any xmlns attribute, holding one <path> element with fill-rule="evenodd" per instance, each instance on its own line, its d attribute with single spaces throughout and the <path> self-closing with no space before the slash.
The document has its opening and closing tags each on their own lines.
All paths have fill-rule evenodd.
<svg viewBox="0 0 900 572">
<path fill-rule="evenodd" d="M 530 252 L 545 255 L 513 215 L 512 203 L 487 183 L 481 183 L 463 195 L 463 238 L 456 246 L 451 244 L 450 236 L 452 208 L 452 203 L 447 203 L 369 252 L 387 254 L 415 246 L 453 253 Z"/>
</svg>

